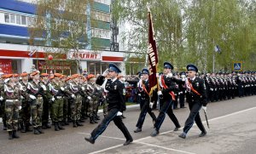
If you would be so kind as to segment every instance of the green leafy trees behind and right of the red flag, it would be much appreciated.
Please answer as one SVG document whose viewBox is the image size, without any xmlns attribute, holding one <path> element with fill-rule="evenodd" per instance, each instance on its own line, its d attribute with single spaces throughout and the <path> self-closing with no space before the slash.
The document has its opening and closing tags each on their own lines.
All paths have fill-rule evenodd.
<svg viewBox="0 0 256 154">
<path fill-rule="evenodd" d="M 178 69 L 188 63 L 201 71 L 230 71 L 233 61 L 244 69 L 256 69 L 255 0 L 116 0 L 113 15 L 129 22 L 129 50 L 146 53 L 148 45 L 147 4 L 154 20 L 160 65 L 171 61 Z M 221 54 L 214 53 L 214 46 Z M 144 59 L 143 54 L 139 54 Z"/>
</svg>

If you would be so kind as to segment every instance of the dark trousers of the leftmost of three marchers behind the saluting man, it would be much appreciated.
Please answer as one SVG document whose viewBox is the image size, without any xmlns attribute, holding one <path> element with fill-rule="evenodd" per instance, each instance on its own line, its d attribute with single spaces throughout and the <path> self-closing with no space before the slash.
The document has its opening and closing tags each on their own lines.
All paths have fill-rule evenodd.
<svg viewBox="0 0 256 154">
<path fill-rule="evenodd" d="M 137 128 L 143 128 L 143 123 L 144 123 L 145 117 L 147 115 L 147 112 L 150 115 L 150 117 L 152 117 L 152 120 L 155 122 L 156 117 L 154 115 L 154 112 L 149 107 L 149 102 L 145 102 L 143 105 L 142 111 L 140 113 L 140 116 L 137 120 L 137 125 L 136 125 Z"/>
</svg>

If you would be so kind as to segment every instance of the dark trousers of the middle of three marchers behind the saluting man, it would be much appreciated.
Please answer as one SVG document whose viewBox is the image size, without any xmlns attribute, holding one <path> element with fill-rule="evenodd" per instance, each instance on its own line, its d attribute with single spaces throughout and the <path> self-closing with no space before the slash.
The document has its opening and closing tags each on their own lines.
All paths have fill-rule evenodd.
<svg viewBox="0 0 256 154">
<path fill-rule="evenodd" d="M 168 116 L 170 117 L 174 125 L 176 127 L 180 127 L 180 124 L 177 121 L 177 117 L 175 117 L 175 115 L 173 114 L 172 105 L 173 105 L 172 100 L 164 100 L 163 105 L 160 107 L 160 113 L 154 123 L 154 128 L 156 128 L 156 130 L 160 129 L 162 123 L 166 118 L 166 113 L 168 114 Z"/>
</svg>

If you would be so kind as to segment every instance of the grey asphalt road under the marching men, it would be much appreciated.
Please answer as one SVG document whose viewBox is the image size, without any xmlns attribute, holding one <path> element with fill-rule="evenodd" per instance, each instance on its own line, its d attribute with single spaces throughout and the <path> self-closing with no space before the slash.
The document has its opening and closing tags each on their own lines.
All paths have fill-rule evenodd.
<svg viewBox="0 0 256 154">
<path fill-rule="evenodd" d="M 186 104 L 186 106 L 188 106 Z M 154 111 L 156 115 L 158 111 Z M 178 109 L 174 113 L 182 124 L 189 115 L 189 109 Z M 227 154 L 254 154 L 256 153 L 256 96 L 236 98 L 209 103 L 207 117 L 210 129 L 207 128 L 205 117 L 201 118 L 207 128 L 207 136 L 199 138 L 199 128 L 190 129 L 185 140 L 177 137 L 182 129 L 173 132 L 174 124 L 169 117 L 160 128 L 160 135 L 152 138 L 150 133 L 153 123 L 149 115 L 145 119 L 143 132 L 135 134 L 139 108 L 125 111 L 124 123 L 131 132 L 134 142 L 123 146 L 125 137 L 119 129 L 110 123 L 106 131 L 99 136 L 95 145 L 85 142 L 84 136 L 89 136 L 96 124 L 84 123 L 84 127 L 73 128 L 72 125 L 65 130 L 55 132 L 54 128 L 47 129 L 45 134 L 20 134 L 20 139 L 8 140 L 7 132 L 0 130 L 0 153 L 227 153 Z M 101 118 L 102 115 L 100 114 Z M 0 123 L 3 128 L 3 123 Z"/>
</svg>

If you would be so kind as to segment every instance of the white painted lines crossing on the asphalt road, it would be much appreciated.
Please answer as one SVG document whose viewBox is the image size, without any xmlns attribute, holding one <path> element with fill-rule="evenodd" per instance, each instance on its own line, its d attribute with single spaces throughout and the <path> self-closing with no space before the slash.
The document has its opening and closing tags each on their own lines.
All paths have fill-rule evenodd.
<svg viewBox="0 0 256 154">
<path fill-rule="evenodd" d="M 209 119 L 208 121 L 214 121 L 214 120 L 218 120 L 218 119 L 220 119 L 220 118 L 234 116 L 234 115 L 236 115 L 236 114 L 239 114 L 239 113 L 242 113 L 242 112 L 245 112 L 245 111 L 251 111 L 251 110 L 254 110 L 254 109 L 256 109 L 256 107 L 252 107 L 252 108 L 249 108 L 249 109 L 246 109 L 246 110 L 242 110 L 242 111 L 236 111 L 236 112 L 233 112 L 233 113 L 230 113 L 230 114 L 221 116 L 221 117 L 215 117 L 215 118 Z M 203 123 L 207 123 L 207 122 L 206 122 L 206 121 L 203 121 Z M 194 125 L 195 125 L 195 124 L 194 124 Z M 194 125 L 193 125 L 193 126 L 194 126 Z M 179 129 L 182 129 L 182 128 L 179 128 Z M 166 132 L 163 132 L 163 133 L 160 133 L 160 134 L 168 134 L 168 133 L 171 133 L 171 132 L 173 132 L 173 130 L 169 130 L 169 131 L 166 131 Z M 81 133 L 81 134 L 82 134 L 82 133 Z M 102 136 L 102 135 L 100 135 L 100 136 Z M 105 136 L 105 137 L 108 137 L 108 136 Z M 108 138 L 112 138 L 112 137 L 108 137 Z M 151 144 L 148 144 L 148 143 L 140 142 L 140 140 L 145 140 L 145 139 L 150 139 L 150 138 L 152 138 L 152 137 L 151 137 L 151 136 L 147 136 L 147 137 L 144 137 L 144 138 L 141 138 L 141 139 L 138 139 L 138 140 L 134 140 L 133 142 L 139 143 L 139 144 L 144 144 L 144 145 L 151 145 Z M 119 139 L 119 140 L 121 140 L 120 138 L 113 138 L 113 139 Z M 108 151 L 108 150 L 117 148 L 117 147 L 119 147 L 119 146 L 122 146 L 122 144 L 121 144 L 121 145 L 114 145 L 114 146 L 111 146 L 111 147 L 102 149 L 102 150 L 100 150 L 100 151 L 94 151 L 94 152 L 91 152 L 90 154 L 96 154 L 96 153 L 99 153 L 99 152 L 102 152 L 102 151 Z M 172 151 L 179 151 L 179 150 L 172 149 L 172 148 L 166 148 L 166 147 L 160 146 L 160 145 L 151 145 L 151 146 L 155 146 L 155 147 L 159 147 L 159 148 L 163 148 L 163 149 L 167 149 L 167 150 L 172 150 Z M 188 151 L 180 151 L 180 152 L 192 154 L 191 152 L 188 152 Z"/>
</svg>

